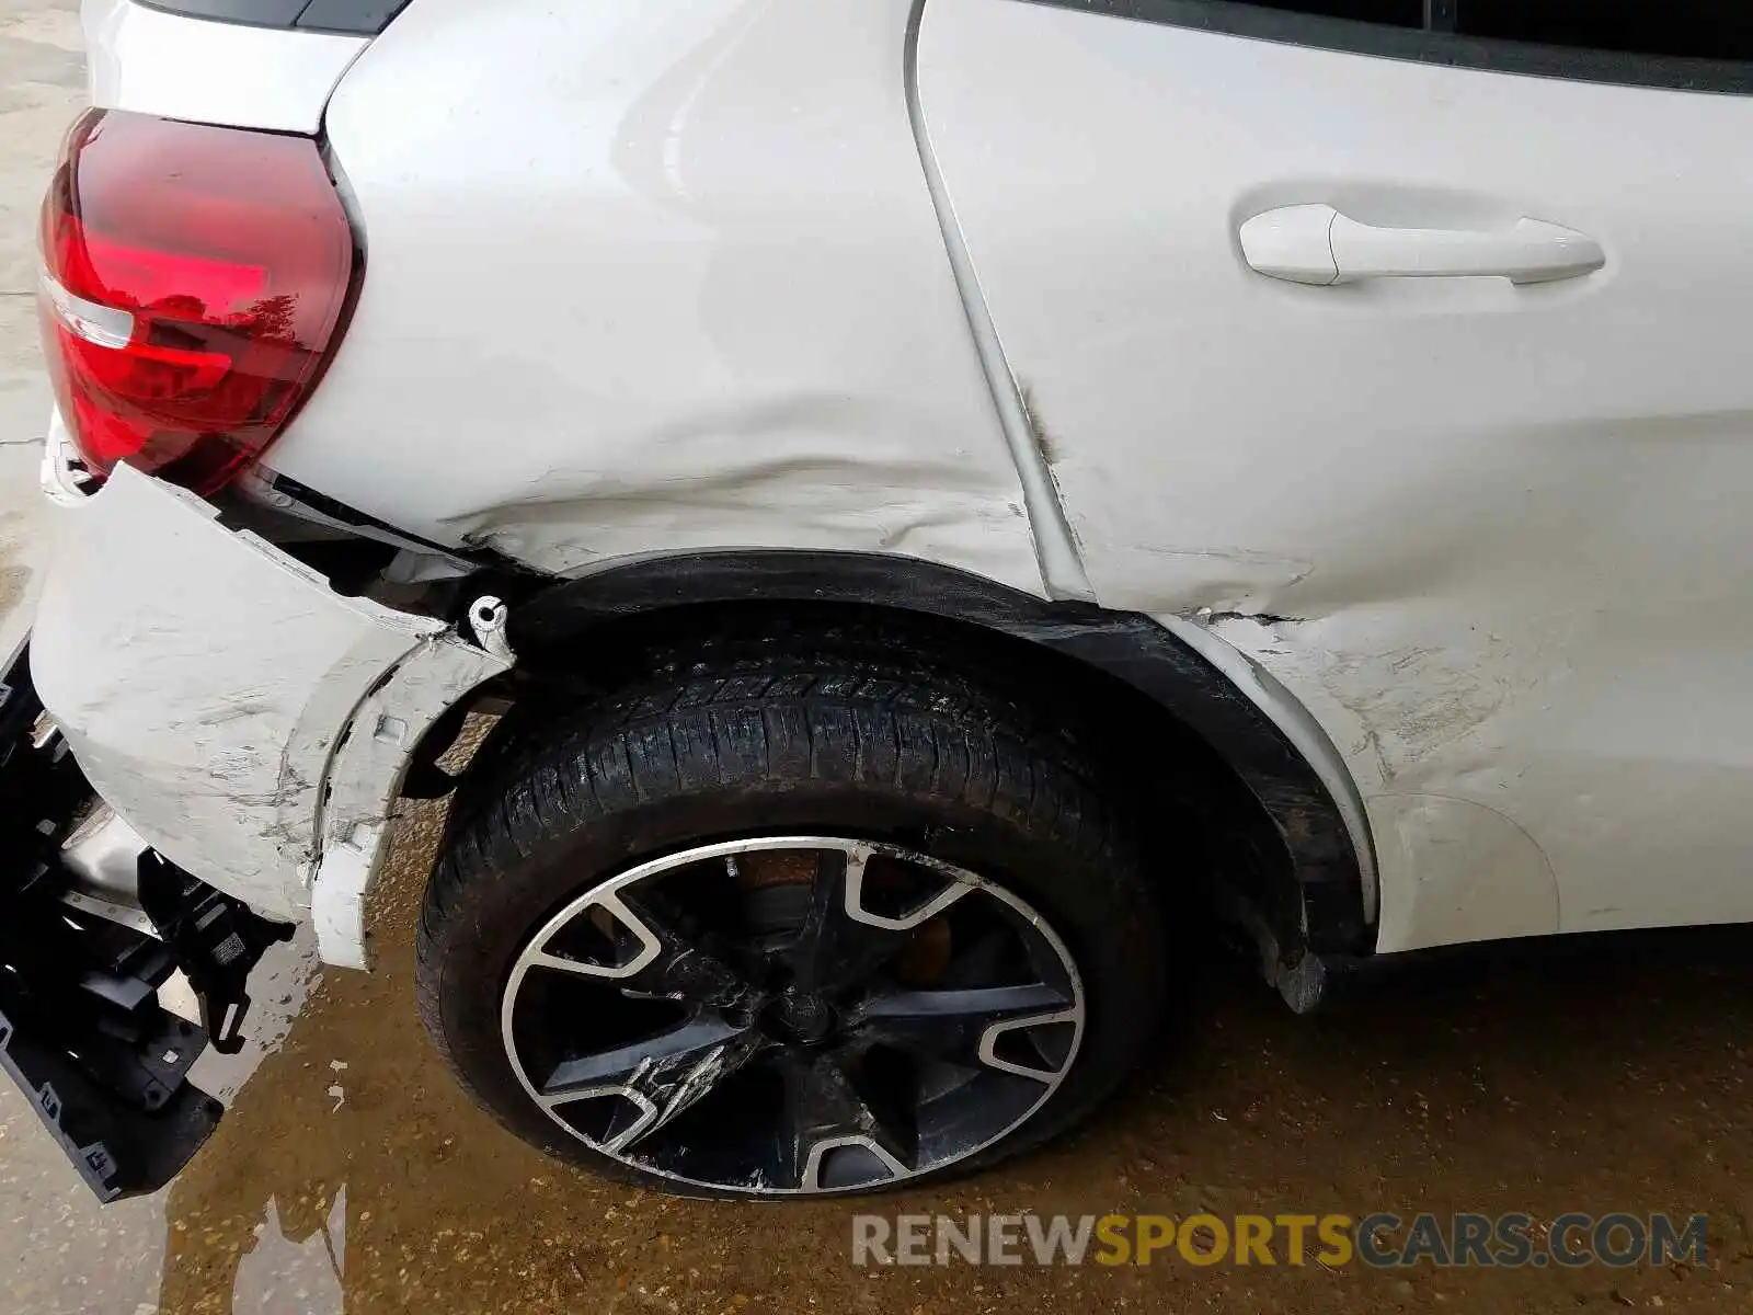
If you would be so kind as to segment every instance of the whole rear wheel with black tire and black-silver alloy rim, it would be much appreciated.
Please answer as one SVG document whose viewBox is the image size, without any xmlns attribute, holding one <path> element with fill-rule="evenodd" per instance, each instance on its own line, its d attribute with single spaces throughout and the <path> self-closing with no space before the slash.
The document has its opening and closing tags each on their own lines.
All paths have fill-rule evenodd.
<svg viewBox="0 0 1753 1315">
<path fill-rule="evenodd" d="M 526 1140 L 689 1196 L 876 1191 L 1082 1117 L 1160 1001 L 1099 770 L 959 677 L 727 647 L 466 785 L 421 1008 Z"/>
</svg>

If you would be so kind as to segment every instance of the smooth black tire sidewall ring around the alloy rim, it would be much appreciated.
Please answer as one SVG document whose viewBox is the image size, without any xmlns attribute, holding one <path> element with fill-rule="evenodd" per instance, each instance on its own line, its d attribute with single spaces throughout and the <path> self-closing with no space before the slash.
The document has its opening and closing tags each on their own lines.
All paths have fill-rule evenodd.
<svg viewBox="0 0 1753 1315">
<path fill-rule="evenodd" d="M 510 849 L 505 828 L 475 826 L 463 843 L 484 833 L 501 842 L 480 854 L 496 880 L 470 884 L 465 906 L 421 947 L 419 989 L 428 1019 L 442 1031 L 444 1048 L 475 1098 L 514 1133 L 622 1180 L 745 1199 L 647 1175 L 568 1136 L 517 1078 L 501 1040 L 501 1003 L 517 956 L 559 908 L 650 859 L 720 840 L 782 835 L 901 843 L 1004 887 L 1059 935 L 1085 991 L 1085 1027 L 1071 1073 L 1022 1127 L 992 1147 L 898 1185 L 968 1173 L 1064 1131 L 1117 1085 L 1159 1013 L 1164 942 L 1136 864 L 1055 843 L 1055 836 L 966 803 L 898 798 L 892 789 L 857 784 L 768 780 L 593 817 L 570 833 L 526 843 L 528 852 L 493 852 Z M 454 847 L 440 863 L 452 861 Z"/>
</svg>

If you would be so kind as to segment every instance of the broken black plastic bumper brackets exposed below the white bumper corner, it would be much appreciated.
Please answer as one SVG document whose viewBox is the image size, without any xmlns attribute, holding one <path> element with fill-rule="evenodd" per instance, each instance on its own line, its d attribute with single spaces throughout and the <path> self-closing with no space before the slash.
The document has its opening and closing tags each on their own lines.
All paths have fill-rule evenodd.
<svg viewBox="0 0 1753 1315">
<path fill-rule="evenodd" d="M 0 1071 L 30 1099 L 100 1201 L 154 1192 L 202 1148 L 224 1108 L 188 1080 L 209 1045 L 240 1043 L 244 980 L 289 935 L 153 857 L 160 936 L 63 903 L 60 850 L 93 793 L 42 721 L 28 649 L 0 684 Z M 209 1027 L 158 989 L 182 970 Z M 219 1022 L 214 1024 L 212 1020 Z"/>
</svg>

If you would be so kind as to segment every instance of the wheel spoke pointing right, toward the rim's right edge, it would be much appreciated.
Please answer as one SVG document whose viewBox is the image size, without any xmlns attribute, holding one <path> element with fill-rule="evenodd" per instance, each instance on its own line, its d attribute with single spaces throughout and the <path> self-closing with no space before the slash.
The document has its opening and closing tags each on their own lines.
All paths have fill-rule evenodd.
<svg viewBox="0 0 1753 1315">
<path fill-rule="evenodd" d="M 1052 1082 L 1055 1070 L 1017 1064 L 997 1056 L 1008 1031 L 1071 1022 L 1071 999 L 1045 984 L 959 991 L 894 991 L 859 1006 L 854 1034 L 873 1045 L 905 1050 L 959 1068 L 997 1068 Z"/>
</svg>

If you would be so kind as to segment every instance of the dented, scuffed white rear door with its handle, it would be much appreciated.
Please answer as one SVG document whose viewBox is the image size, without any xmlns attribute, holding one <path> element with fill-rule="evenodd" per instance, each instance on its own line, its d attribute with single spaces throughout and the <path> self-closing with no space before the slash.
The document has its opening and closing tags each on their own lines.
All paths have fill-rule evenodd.
<svg viewBox="0 0 1753 1315">
<path fill-rule="evenodd" d="M 1325 726 L 1381 949 L 1753 919 L 1753 19 L 1637 9 L 924 7 L 1089 580 Z"/>
</svg>

